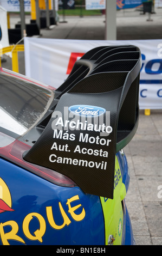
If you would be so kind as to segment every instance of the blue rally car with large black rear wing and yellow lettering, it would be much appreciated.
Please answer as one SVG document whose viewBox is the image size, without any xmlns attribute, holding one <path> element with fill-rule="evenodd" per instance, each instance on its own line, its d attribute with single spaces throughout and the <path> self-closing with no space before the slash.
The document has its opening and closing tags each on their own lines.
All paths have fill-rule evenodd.
<svg viewBox="0 0 162 256">
<path fill-rule="evenodd" d="M 123 148 L 140 50 L 101 46 L 58 88 L 0 69 L 0 244 L 134 245 Z"/>
</svg>

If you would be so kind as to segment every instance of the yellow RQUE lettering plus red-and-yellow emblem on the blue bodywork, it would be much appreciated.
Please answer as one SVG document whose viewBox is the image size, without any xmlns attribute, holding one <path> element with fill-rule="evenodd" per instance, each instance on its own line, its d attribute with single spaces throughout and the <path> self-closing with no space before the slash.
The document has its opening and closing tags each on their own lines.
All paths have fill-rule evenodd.
<svg viewBox="0 0 162 256">
<path fill-rule="evenodd" d="M 72 206 L 75 203 L 75 206 Z M 0 213 L 5 211 L 14 211 L 11 208 L 11 194 L 9 191 L 8 186 L 5 184 L 5 182 L 0 178 Z M 66 212 L 64 209 L 68 206 L 68 212 Z M 46 233 L 46 227 L 47 225 L 50 225 L 50 228 L 53 228 L 55 230 L 61 230 L 64 227 L 70 225 L 73 221 L 80 222 L 82 221 L 86 216 L 86 211 L 83 208 L 82 204 L 80 204 L 80 198 L 78 195 L 75 195 L 71 198 L 67 199 L 66 205 L 63 206 L 61 202 L 59 202 L 57 205 L 53 206 L 46 206 L 46 217 L 42 216 L 38 212 L 30 212 L 27 216 L 23 217 L 22 223 L 17 223 L 14 220 L 9 220 L 4 223 L 0 223 L 0 238 L 2 241 L 2 245 L 10 245 L 9 241 L 14 240 L 20 243 L 25 244 L 24 237 L 20 237 L 17 235 L 19 229 L 23 230 L 23 234 L 25 237 L 31 241 L 39 241 L 43 242 L 43 236 Z M 60 214 L 62 216 L 62 224 L 58 225 L 57 222 L 55 222 L 54 213 L 55 207 L 59 207 Z M 81 209 L 79 214 L 76 214 L 76 210 Z M 34 232 L 30 230 L 30 222 L 36 218 L 38 223 L 38 229 L 36 229 Z M 71 219 L 71 220 L 70 220 Z M 48 222 L 48 223 L 47 223 Z M 10 226 L 10 231 L 6 231 L 7 226 Z M 37 226 L 37 225 L 36 225 Z"/>
</svg>

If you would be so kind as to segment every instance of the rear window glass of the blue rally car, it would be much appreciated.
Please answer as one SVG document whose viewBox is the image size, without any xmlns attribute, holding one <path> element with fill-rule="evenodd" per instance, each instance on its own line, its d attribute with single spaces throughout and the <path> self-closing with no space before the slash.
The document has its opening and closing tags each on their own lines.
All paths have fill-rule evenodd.
<svg viewBox="0 0 162 256">
<path fill-rule="evenodd" d="M 53 92 L 0 72 L 0 127 L 17 135 L 34 126 L 53 100 Z"/>
</svg>

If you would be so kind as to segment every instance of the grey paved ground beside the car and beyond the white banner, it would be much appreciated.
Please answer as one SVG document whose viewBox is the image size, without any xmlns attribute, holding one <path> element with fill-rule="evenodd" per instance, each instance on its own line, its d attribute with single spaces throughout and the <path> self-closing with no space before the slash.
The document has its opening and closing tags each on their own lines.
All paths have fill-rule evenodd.
<svg viewBox="0 0 162 256">
<path fill-rule="evenodd" d="M 117 39 L 162 39 L 162 9 L 155 9 L 153 21 L 140 11 L 117 11 Z M 20 20 L 10 18 L 11 27 Z M 26 17 L 28 23 L 30 17 Z M 63 17 L 60 17 L 60 21 Z M 43 38 L 105 39 L 105 15 L 68 17 L 52 29 L 41 29 Z M 162 41 L 161 41 L 162 42 Z M 3 63 L 11 69 L 10 60 Z M 25 74 L 24 56 L 20 54 L 20 72 Z M 137 245 L 162 245 L 162 198 L 158 186 L 162 185 L 162 110 L 151 111 L 150 116 L 140 112 L 139 128 L 125 148 L 131 181 L 126 196 Z M 162 196 L 162 192 L 161 192 Z"/>
</svg>

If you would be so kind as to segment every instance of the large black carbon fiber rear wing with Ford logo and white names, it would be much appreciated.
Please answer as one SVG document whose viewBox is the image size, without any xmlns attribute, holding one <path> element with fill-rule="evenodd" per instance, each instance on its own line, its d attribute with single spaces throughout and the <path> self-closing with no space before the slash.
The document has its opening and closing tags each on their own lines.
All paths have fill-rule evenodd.
<svg viewBox="0 0 162 256">
<path fill-rule="evenodd" d="M 136 46 L 87 52 L 56 90 L 55 110 L 24 160 L 68 176 L 85 193 L 113 199 L 115 154 L 138 127 L 140 69 Z"/>
</svg>

